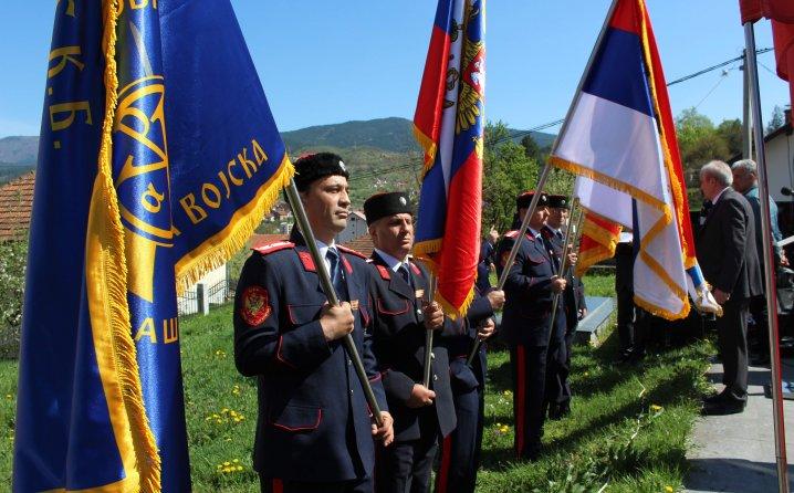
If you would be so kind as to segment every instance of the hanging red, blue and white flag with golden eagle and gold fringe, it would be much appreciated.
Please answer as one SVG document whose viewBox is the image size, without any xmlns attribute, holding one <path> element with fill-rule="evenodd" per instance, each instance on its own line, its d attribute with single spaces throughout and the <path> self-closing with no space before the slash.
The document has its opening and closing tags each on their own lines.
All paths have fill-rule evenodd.
<svg viewBox="0 0 794 493">
<path fill-rule="evenodd" d="M 414 253 L 452 317 L 473 298 L 480 251 L 484 34 L 484 0 L 439 0 L 414 116 L 425 149 Z"/>
</svg>

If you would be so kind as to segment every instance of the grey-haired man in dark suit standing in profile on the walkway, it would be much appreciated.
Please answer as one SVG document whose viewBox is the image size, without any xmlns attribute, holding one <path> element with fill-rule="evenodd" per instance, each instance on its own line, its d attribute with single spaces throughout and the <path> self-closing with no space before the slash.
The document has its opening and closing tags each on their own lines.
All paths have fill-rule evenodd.
<svg viewBox="0 0 794 493">
<path fill-rule="evenodd" d="M 755 221 L 748 200 L 731 188 L 731 168 L 711 161 L 700 169 L 700 190 L 712 206 L 698 231 L 698 262 L 724 314 L 717 318 L 724 390 L 707 398 L 703 412 L 742 412 L 748 399 L 748 303 L 763 292 Z"/>
</svg>

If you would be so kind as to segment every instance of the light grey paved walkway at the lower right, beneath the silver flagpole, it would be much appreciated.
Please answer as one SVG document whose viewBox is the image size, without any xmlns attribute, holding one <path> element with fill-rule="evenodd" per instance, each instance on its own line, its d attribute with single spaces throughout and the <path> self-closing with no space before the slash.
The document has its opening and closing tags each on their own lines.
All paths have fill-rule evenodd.
<svg viewBox="0 0 794 493">
<path fill-rule="evenodd" d="M 718 390 L 722 365 L 713 365 L 709 378 Z M 783 380 L 794 380 L 794 359 L 783 360 Z M 744 412 L 700 418 L 692 448 L 687 453 L 692 471 L 686 491 L 769 493 L 777 492 L 772 399 L 764 395 L 770 382 L 767 367 L 750 367 L 748 407 Z M 788 484 L 794 491 L 794 401 L 783 401 L 788 458 Z"/>
</svg>

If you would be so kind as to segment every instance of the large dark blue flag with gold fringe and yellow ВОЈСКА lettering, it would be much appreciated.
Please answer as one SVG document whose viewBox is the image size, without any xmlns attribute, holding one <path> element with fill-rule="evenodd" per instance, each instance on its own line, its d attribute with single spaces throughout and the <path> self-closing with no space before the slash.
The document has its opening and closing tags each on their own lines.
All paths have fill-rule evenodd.
<svg viewBox="0 0 794 493">
<path fill-rule="evenodd" d="M 190 490 L 177 292 L 292 172 L 228 0 L 58 2 L 14 491 Z"/>
</svg>

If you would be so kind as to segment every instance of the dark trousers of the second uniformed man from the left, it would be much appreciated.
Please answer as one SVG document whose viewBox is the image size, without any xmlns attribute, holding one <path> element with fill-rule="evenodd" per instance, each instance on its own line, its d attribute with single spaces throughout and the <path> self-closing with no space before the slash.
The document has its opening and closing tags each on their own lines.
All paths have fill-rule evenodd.
<svg viewBox="0 0 794 493">
<path fill-rule="evenodd" d="M 420 419 L 417 440 L 378 445 L 375 458 L 375 491 L 378 493 L 426 493 L 430 486 L 432 460 L 438 449 L 438 422 L 428 408 Z"/>
</svg>

